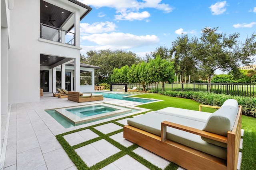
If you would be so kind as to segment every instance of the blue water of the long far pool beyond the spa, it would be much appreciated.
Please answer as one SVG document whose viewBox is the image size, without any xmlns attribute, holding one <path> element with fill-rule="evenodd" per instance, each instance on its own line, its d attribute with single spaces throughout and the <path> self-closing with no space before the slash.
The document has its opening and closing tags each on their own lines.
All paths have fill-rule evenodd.
<svg viewBox="0 0 256 170">
<path fill-rule="evenodd" d="M 128 100 L 128 101 L 132 101 L 132 102 L 147 103 L 147 102 L 154 101 L 154 100 L 150 100 L 150 99 L 126 97 L 126 96 L 131 96 L 132 94 L 120 94 L 120 93 L 109 93 L 109 92 L 95 92 L 95 93 L 96 94 L 102 94 L 103 97 L 106 97 L 106 98 L 114 98 L 114 99 L 119 99 L 119 100 Z"/>
</svg>

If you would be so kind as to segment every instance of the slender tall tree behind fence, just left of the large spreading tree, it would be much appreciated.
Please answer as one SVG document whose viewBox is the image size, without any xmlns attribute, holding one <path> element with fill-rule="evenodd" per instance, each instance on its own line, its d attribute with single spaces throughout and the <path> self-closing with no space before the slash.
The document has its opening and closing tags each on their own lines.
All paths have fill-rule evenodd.
<svg viewBox="0 0 256 170">
<path fill-rule="evenodd" d="M 175 73 L 181 75 L 181 82 L 183 83 L 183 76 L 191 75 L 196 70 L 196 60 L 192 56 L 192 45 L 188 35 L 182 34 L 172 42 L 171 53 L 174 56 Z"/>
</svg>

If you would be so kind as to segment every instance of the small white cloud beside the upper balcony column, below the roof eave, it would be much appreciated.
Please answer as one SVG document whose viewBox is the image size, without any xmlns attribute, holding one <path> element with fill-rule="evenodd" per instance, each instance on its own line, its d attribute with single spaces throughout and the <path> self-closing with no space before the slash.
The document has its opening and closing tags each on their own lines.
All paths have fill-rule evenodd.
<svg viewBox="0 0 256 170">
<path fill-rule="evenodd" d="M 95 22 L 93 24 L 87 23 L 80 23 L 80 32 L 81 34 L 95 34 L 95 33 L 102 33 L 102 32 L 112 32 L 116 30 L 116 24 L 113 22 Z"/>
</svg>

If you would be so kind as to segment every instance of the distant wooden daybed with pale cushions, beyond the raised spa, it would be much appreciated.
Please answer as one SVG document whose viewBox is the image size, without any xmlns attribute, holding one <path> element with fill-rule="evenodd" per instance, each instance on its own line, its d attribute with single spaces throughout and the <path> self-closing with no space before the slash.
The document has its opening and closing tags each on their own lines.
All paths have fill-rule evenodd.
<svg viewBox="0 0 256 170">
<path fill-rule="evenodd" d="M 80 92 L 71 92 L 68 91 L 68 100 L 72 100 L 74 102 L 92 102 L 103 100 L 102 94 L 92 94 L 92 93 L 80 93 Z"/>
</svg>

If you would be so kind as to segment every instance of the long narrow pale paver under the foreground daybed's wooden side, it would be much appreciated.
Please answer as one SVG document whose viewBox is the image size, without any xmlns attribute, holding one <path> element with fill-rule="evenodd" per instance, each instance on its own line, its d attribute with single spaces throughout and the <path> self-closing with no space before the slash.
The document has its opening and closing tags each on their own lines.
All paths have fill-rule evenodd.
<svg viewBox="0 0 256 170">
<path fill-rule="evenodd" d="M 142 156 L 142 158 L 148 160 L 152 164 L 156 165 L 158 168 L 164 169 L 168 164 L 170 164 L 170 161 L 141 147 L 136 148 L 135 150 L 133 150 L 133 152 Z"/>
</svg>

